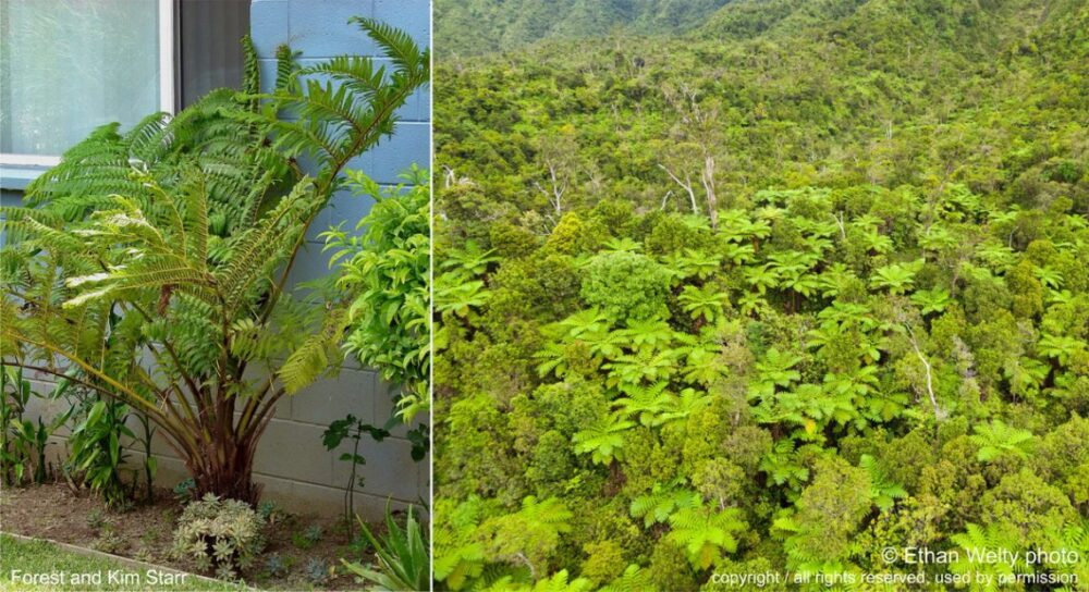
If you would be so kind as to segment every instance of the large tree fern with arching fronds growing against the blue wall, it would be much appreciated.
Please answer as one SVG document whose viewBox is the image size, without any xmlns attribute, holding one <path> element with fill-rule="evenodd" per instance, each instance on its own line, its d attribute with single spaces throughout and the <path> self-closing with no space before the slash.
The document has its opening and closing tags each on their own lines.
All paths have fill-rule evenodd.
<svg viewBox="0 0 1089 592">
<path fill-rule="evenodd" d="M 198 496 L 256 502 L 254 452 L 277 403 L 326 370 L 299 360 L 339 359 L 348 303 L 310 306 L 290 272 L 347 162 L 429 79 L 428 51 L 407 35 L 352 22 L 389 71 L 347 55 L 297 69 L 281 48 L 277 87 L 258 95 L 244 40 L 244 92 L 215 90 L 124 134 L 102 126 L 28 187 L 25 208 L 3 211 L 4 363 L 146 414 Z"/>
</svg>

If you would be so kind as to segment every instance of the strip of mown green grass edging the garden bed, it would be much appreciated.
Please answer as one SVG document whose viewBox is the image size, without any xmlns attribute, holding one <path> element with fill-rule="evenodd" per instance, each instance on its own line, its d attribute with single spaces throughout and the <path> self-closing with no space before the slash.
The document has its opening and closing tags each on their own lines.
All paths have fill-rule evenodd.
<svg viewBox="0 0 1089 592">
<path fill-rule="evenodd" d="M 8 590 L 246 590 L 166 569 L 134 568 L 105 557 L 89 557 L 44 541 L 0 534 L 0 591 Z"/>
</svg>

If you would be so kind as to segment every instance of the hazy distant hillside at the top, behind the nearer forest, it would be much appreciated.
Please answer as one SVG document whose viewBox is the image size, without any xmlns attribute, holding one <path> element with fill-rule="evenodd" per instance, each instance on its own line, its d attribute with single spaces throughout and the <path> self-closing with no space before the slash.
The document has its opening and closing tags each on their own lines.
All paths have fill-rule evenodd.
<svg viewBox="0 0 1089 592">
<path fill-rule="evenodd" d="M 435 3 L 443 57 L 510 51 L 542 39 L 686 32 L 730 0 L 463 0 Z M 591 41 L 592 42 L 592 41 Z"/>
</svg>

